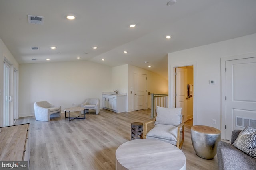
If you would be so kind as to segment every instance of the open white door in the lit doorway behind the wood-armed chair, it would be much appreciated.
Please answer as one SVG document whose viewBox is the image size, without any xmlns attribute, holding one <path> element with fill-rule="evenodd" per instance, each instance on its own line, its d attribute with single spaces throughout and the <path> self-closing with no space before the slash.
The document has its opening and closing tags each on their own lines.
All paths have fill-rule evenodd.
<svg viewBox="0 0 256 170">
<path fill-rule="evenodd" d="M 187 121 L 187 97 L 188 97 L 188 71 L 185 68 L 176 68 L 176 98 L 175 107 L 181 107 L 184 121 Z"/>
</svg>

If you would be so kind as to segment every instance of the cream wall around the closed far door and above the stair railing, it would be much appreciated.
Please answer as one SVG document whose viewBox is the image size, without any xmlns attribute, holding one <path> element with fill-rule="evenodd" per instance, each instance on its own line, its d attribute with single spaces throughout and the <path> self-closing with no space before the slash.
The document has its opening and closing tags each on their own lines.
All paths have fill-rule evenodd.
<svg viewBox="0 0 256 170">
<path fill-rule="evenodd" d="M 133 76 L 134 74 L 146 74 L 147 75 L 147 92 L 156 93 L 156 94 L 168 94 L 168 80 L 164 77 L 156 74 L 154 72 L 150 72 L 148 70 L 144 70 L 142 68 L 132 66 L 129 64 L 129 76 L 128 76 L 128 111 L 134 111 L 134 92 L 131 94 L 130 91 L 133 90 L 134 82 Z M 147 95 L 147 103 L 150 103 L 150 95 Z M 150 108 L 150 106 L 147 106 Z"/>
</svg>

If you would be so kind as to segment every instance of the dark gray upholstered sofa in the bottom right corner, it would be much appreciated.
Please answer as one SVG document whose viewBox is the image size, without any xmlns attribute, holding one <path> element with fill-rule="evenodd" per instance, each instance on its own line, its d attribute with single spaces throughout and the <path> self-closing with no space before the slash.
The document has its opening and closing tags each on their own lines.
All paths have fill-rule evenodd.
<svg viewBox="0 0 256 170">
<path fill-rule="evenodd" d="M 241 130 L 232 131 L 231 144 L 234 143 Z M 230 143 L 220 141 L 217 147 L 219 170 L 255 170 L 256 158 L 237 149 Z"/>
</svg>

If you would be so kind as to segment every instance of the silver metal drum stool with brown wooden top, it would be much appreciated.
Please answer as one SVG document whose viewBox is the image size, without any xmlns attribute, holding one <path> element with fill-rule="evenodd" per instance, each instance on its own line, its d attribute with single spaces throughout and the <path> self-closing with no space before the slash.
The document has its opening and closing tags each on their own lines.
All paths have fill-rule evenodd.
<svg viewBox="0 0 256 170">
<path fill-rule="evenodd" d="M 196 125 L 191 127 L 191 141 L 197 156 L 213 159 L 220 141 L 220 130 L 214 127 Z"/>
</svg>

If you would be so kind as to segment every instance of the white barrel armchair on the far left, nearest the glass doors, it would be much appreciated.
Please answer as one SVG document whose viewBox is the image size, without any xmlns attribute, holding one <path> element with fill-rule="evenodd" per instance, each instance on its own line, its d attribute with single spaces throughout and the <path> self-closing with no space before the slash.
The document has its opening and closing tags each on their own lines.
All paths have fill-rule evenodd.
<svg viewBox="0 0 256 170">
<path fill-rule="evenodd" d="M 61 106 L 55 106 L 47 101 L 34 103 L 35 116 L 38 121 L 50 121 L 50 117 L 60 117 Z"/>
</svg>

